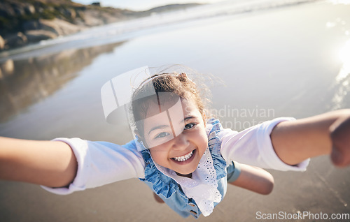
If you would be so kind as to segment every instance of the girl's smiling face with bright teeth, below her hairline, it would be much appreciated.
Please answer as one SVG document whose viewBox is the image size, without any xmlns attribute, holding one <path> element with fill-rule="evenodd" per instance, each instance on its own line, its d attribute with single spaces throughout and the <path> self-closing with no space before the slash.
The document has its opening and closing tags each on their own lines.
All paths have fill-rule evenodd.
<svg viewBox="0 0 350 222">
<path fill-rule="evenodd" d="M 208 145 L 201 112 L 191 99 L 181 98 L 165 111 L 151 105 L 144 119 L 144 142 L 159 165 L 181 175 L 192 173 Z"/>
</svg>

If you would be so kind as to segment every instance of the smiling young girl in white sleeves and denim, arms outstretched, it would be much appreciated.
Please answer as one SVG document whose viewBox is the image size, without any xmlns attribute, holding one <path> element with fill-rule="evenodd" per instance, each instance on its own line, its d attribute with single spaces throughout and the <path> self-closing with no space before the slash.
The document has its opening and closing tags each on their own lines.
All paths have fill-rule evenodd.
<svg viewBox="0 0 350 222">
<path fill-rule="evenodd" d="M 249 165 L 305 170 L 308 158 L 331 150 L 336 165 L 350 162 L 349 110 L 274 119 L 238 133 L 207 119 L 196 85 L 184 73 L 146 80 L 133 95 L 132 114 L 137 139 L 123 146 L 78 138 L 0 138 L 0 177 L 58 194 L 136 177 L 181 216 L 198 217 L 211 214 L 228 182 L 271 191 L 272 177 Z M 241 164 L 237 179 L 232 161 L 248 164 Z"/>
</svg>

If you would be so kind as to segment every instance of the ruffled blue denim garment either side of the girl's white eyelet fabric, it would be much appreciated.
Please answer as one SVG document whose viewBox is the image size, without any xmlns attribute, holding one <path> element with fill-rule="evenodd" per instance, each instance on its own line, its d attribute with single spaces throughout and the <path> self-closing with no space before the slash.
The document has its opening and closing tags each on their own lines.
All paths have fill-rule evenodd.
<svg viewBox="0 0 350 222">
<path fill-rule="evenodd" d="M 208 146 L 214 161 L 216 179 L 218 180 L 218 191 L 221 193 L 223 199 L 227 188 L 227 165 L 226 161 L 221 156 L 221 140 L 218 138 L 218 132 L 223 130 L 223 128 L 218 119 L 209 119 L 207 124 L 212 126 L 208 135 Z M 201 212 L 195 200 L 193 200 L 193 198 L 188 198 L 186 194 L 183 193 L 181 186 L 177 184 L 174 179 L 164 175 L 156 168 L 148 149 L 141 151 L 141 154 L 144 158 L 146 168 L 145 178 L 140 180 L 145 182 L 165 203 L 167 203 L 167 205 L 169 205 L 169 207 L 174 209 L 174 211 L 181 216 L 188 217 L 192 215 L 198 218 Z M 218 202 L 214 202 L 214 206 L 216 205 L 218 205 Z"/>
</svg>

